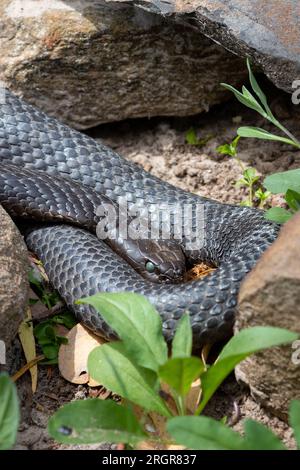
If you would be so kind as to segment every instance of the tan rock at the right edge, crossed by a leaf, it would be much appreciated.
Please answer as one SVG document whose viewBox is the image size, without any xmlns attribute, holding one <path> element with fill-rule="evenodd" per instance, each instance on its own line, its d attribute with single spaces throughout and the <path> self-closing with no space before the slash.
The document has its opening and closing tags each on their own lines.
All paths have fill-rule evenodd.
<svg viewBox="0 0 300 470">
<path fill-rule="evenodd" d="M 271 325 L 300 333 L 300 213 L 282 229 L 242 284 L 236 328 Z M 251 356 L 236 368 L 239 380 L 277 416 L 300 399 L 300 341 Z"/>
</svg>

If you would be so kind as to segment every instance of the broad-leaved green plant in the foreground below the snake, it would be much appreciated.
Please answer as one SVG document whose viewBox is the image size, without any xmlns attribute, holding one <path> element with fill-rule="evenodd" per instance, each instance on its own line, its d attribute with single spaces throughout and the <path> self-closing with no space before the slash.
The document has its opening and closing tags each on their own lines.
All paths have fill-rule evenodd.
<svg viewBox="0 0 300 470">
<path fill-rule="evenodd" d="M 103 293 L 78 303 L 90 304 L 101 312 L 120 338 L 96 347 L 89 355 L 88 370 L 92 378 L 123 401 L 117 404 L 88 399 L 63 406 L 49 421 L 49 433 L 54 439 L 67 444 L 109 441 L 131 446 L 145 439 L 159 440 L 145 426 L 145 416 L 154 412 L 166 422 L 169 437 L 165 444 L 175 441 L 194 449 L 249 449 L 262 445 L 261 437 L 255 438 L 251 429 L 243 440 L 223 423 L 198 415 L 239 362 L 262 349 L 293 342 L 297 334 L 279 328 L 249 328 L 234 336 L 217 361 L 207 367 L 199 357 L 192 356 L 188 314 L 178 324 L 169 355 L 160 316 L 146 298 L 134 293 Z M 202 398 L 191 411 L 187 396 L 198 378 Z M 162 392 L 166 390 L 164 385 L 169 393 Z M 174 406 L 170 406 L 170 400 Z M 141 419 L 137 418 L 134 405 L 142 408 Z M 194 416 L 188 416 L 190 413 Z M 260 429 L 260 425 L 256 428 Z M 270 434 L 268 430 L 264 432 Z M 270 448 L 271 444 L 275 446 L 275 440 L 269 440 Z M 277 441 L 276 446 L 279 447 Z"/>
</svg>

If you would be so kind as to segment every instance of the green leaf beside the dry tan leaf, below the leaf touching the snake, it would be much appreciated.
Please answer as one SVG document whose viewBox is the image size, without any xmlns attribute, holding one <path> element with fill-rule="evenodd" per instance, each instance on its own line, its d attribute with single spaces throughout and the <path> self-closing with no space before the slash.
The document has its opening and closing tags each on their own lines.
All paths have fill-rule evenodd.
<svg viewBox="0 0 300 470">
<path fill-rule="evenodd" d="M 93 379 L 121 397 L 146 410 L 171 416 L 156 393 L 156 374 L 131 362 L 123 343 L 117 341 L 95 348 L 88 358 L 88 370 Z"/>
</svg>

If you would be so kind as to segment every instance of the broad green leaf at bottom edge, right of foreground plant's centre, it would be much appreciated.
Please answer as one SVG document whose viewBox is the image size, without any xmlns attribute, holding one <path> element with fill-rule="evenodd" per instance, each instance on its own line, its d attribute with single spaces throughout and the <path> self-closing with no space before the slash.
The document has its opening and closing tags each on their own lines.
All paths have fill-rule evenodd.
<svg viewBox="0 0 300 470">
<path fill-rule="evenodd" d="M 223 423 L 206 416 L 178 416 L 167 424 L 178 444 L 194 450 L 241 450 L 242 437 Z"/>
</svg>

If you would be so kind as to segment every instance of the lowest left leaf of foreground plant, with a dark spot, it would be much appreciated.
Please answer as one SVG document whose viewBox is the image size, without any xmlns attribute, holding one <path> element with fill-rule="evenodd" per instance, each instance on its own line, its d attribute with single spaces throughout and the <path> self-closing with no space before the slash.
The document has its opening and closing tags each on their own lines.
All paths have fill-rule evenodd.
<svg viewBox="0 0 300 470">
<path fill-rule="evenodd" d="M 98 398 L 73 401 L 49 420 L 51 437 L 64 444 L 137 443 L 145 438 L 132 410 Z"/>
</svg>

